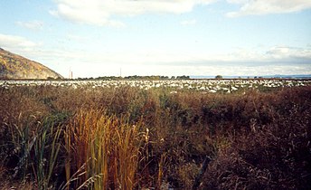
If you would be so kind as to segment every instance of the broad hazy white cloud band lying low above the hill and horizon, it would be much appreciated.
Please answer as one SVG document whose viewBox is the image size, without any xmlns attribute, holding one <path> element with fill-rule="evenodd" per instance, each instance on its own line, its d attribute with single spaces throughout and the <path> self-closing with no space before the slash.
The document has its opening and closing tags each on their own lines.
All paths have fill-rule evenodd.
<svg viewBox="0 0 311 190">
<path fill-rule="evenodd" d="M 79 36 L 71 36 L 79 39 Z M 63 76 L 69 68 L 75 77 L 118 75 L 267 75 L 310 74 L 311 47 L 274 46 L 266 50 L 236 49 L 228 53 L 174 50 L 74 50 L 49 49 L 22 36 L 0 33 L 0 47 L 36 62 Z"/>
</svg>

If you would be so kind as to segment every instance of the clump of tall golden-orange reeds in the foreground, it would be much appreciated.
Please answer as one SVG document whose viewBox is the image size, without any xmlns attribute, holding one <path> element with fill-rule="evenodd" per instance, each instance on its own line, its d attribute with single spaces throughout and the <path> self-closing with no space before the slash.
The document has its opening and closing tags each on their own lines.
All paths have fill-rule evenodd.
<svg viewBox="0 0 311 190">
<path fill-rule="evenodd" d="M 139 128 L 103 110 L 80 110 L 65 130 L 67 181 L 80 170 L 75 188 L 132 189 L 142 143 Z"/>
</svg>

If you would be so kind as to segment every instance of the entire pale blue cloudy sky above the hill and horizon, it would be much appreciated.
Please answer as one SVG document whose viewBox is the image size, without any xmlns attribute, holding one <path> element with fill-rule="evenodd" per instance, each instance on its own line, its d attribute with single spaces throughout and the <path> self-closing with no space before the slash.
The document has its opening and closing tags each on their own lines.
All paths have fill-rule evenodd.
<svg viewBox="0 0 311 190">
<path fill-rule="evenodd" d="M 74 78 L 311 74 L 311 1 L 2 0 L 0 47 Z"/>
</svg>

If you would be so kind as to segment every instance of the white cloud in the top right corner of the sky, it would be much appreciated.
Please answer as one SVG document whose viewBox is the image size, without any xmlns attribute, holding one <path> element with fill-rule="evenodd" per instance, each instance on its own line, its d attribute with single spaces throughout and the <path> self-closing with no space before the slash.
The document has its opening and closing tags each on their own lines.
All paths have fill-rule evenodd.
<svg viewBox="0 0 311 190">
<path fill-rule="evenodd" d="M 240 10 L 226 14 L 238 17 L 248 14 L 286 14 L 311 8 L 310 0 L 227 0 L 230 4 L 240 5 Z"/>
</svg>

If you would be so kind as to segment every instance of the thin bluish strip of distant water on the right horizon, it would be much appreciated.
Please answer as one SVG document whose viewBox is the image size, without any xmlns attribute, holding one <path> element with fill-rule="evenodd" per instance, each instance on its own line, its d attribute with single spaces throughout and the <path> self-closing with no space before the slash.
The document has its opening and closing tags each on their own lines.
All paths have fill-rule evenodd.
<svg viewBox="0 0 311 190">
<path fill-rule="evenodd" d="M 263 76 L 222 76 L 223 79 L 254 79 L 254 78 L 280 78 L 280 79 L 311 79 L 311 74 L 297 75 L 263 75 Z M 215 79 L 215 76 L 190 76 L 190 79 Z"/>
</svg>

